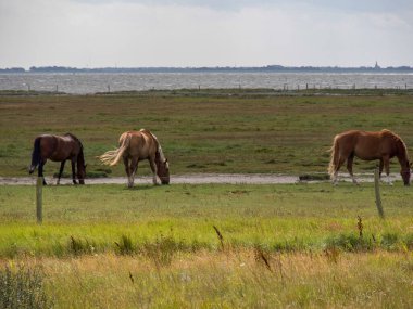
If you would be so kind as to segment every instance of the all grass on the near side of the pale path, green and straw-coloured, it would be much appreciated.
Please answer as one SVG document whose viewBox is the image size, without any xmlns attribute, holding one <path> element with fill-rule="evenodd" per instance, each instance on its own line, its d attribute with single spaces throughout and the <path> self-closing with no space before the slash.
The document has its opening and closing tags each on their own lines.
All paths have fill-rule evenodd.
<svg viewBox="0 0 413 309">
<path fill-rule="evenodd" d="M 373 184 L 48 186 L 37 226 L 0 186 L 0 260 L 55 308 L 409 308 L 413 193 L 381 191 L 386 220 Z"/>
</svg>

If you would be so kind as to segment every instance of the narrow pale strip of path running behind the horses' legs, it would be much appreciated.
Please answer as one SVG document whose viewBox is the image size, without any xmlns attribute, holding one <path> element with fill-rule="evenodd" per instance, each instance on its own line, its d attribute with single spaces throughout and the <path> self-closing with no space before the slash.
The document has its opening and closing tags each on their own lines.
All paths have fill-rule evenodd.
<svg viewBox="0 0 413 309">
<path fill-rule="evenodd" d="M 373 175 L 359 175 L 356 176 L 360 182 L 372 182 Z M 340 180 L 350 181 L 347 175 L 341 175 Z M 400 176 L 391 175 L 391 180 L 400 180 Z M 55 179 L 46 178 L 49 184 L 55 184 Z M 91 178 L 86 179 L 86 184 L 126 184 L 126 177 L 113 178 Z M 192 173 L 192 175 L 177 175 L 171 176 L 171 183 L 188 183 L 188 184 L 202 184 L 202 183 L 233 183 L 233 184 L 291 184 L 302 181 L 298 176 L 286 175 L 265 175 L 265 173 Z M 327 180 L 325 180 L 327 181 Z M 311 182 L 311 181 L 310 181 Z M 320 180 L 317 181 L 320 182 Z M 0 185 L 35 185 L 36 177 L 0 177 Z M 152 177 L 137 177 L 135 184 L 150 184 Z M 72 180 L 64 178 L 61 184 L 72 184 Z"/>
</svg>

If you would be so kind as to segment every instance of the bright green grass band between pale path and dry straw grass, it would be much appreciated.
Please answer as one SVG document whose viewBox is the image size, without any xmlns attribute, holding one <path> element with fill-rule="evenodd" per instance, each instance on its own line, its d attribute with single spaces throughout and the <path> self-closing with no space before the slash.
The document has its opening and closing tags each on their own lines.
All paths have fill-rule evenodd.
<svg viewBox="0 0 413 309">
<path fill-rule="evenodd" d="M 35 188 L 0 186 L 0 256 L 64 257 L 77 254 L 76 245 L 80 254 L 116 253 L 125 246 L 136 254 L 145 244 L 163 241 L 183 252 L 215 250 L 214 226 L 229 247 L 412 248 L 413 193 L 400 182 L 381 191 L 386 220 L 378 218 L 373 184 L 47 186 L 43 224 L 37 226 Z"/>
</svg>

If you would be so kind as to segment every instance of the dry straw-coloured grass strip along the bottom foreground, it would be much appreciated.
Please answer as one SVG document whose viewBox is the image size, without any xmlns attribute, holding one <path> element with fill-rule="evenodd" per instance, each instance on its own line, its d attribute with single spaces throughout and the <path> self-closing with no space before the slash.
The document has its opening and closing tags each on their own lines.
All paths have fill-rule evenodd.
<svg viewBox="0 0 413 309">
<path fill-rule="evenodd" d="M 412 254 L 200 252 L 157 267 L 114 255 L 28 259 L 55 308 L 411 308 Z"/>
</svg>

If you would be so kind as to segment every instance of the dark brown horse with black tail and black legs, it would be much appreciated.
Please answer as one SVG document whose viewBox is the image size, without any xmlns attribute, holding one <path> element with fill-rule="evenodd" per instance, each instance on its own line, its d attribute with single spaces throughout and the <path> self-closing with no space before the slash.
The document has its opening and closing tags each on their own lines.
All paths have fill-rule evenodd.
<svg viewBox="0 0 413 309">
<path fill-rule="evenodd" d="M 43 166 L 48 159 L 61 162 L 57 184 L 60 183 L 66 159 L 72 163 L 73 183 L 77 184 L 75 177 L 75 165 L 77 165 L 77 179 L 80 184 L 85 184 L 84 146 L 75 136 L 66 133 L 63 137 L 50 134 L 37 137 L 34 143 L 29 173 L 33 173 L 38 167 L 38 176 L 43 177 Z M 43 184 L 46 184 L 45 178 Z"/>
</svg>

